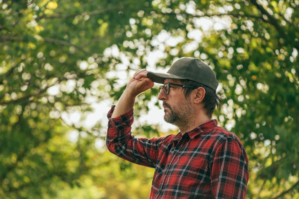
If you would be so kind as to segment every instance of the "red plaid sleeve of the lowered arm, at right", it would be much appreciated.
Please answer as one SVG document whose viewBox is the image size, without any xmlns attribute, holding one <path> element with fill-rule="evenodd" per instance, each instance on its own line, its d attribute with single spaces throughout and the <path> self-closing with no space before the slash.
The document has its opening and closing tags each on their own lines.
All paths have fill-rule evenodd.
<svg viewBox="0 0 299 199">
<path fill-rule="evenodd" d="M 245 198 L 249 178 L 244 147 L 228 138 L 215 151 L 210 162 L 213 198 Z"/>
</svg>

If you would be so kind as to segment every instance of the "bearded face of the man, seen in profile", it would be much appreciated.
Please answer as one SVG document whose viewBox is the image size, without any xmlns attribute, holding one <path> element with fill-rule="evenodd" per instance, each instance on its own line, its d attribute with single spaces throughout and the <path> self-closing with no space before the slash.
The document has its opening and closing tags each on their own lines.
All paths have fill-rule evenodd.
<svg viewBox="0 0 299 199">
<path fill-rule="evenodd" d="M 181 84 L 178 79 L 165 79 L 164 83 L 167 82 Z M 164 120 L 167 123 L 179 125 L 187 122 L 194 114 L 195 110 L 190 102 L 190 97 L 185 98 L 182 87 L 170 85 L 169 94 L 165 95 L 162 89 L 158 99 L 163 101 Z"/>
</svg>

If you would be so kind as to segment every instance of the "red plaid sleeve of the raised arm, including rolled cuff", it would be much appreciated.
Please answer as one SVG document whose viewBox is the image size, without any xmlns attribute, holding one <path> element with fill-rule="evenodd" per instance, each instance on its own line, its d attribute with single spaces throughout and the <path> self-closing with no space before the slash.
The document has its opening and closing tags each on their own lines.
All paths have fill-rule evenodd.
<svg viewBox="0 0 299 199">
<path fill-rule="evenodd" d="M 164 137 L 136 138 L 131 133 L 133 109 L 126 114 L 111 118 L 115 105 L 107 114 L 109 119 L 106 132 L 106 147 L 113 154 L 143 166 L 155 168 L 158 159 L 158 147 Z"/>
</svg>

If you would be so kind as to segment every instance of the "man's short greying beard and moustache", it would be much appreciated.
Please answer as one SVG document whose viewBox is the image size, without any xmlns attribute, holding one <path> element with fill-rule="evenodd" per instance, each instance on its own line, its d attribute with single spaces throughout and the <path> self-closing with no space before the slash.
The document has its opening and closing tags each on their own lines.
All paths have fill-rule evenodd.
<svg viewBox="0 0 299 199">
<path fill-rule="evenodd" d="M 163 102 L 163 106 L 169 109 L 164 109 L 164 120 L 167 123 L 182 127 L 192 122 L 192 117 L 195 109 L 188 99 L 183 100 L 179 106 L 170 106 L 168 103 Z"/>
</svg>

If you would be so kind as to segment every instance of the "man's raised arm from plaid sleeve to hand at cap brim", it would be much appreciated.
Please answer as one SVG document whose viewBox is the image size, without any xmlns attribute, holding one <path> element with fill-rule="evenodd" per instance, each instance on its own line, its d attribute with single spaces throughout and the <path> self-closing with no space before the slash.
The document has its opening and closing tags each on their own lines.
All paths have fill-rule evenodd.
<svg viewBox="0 0 299 199">
<path fill-rule="evenodd" d="M 135 97 L 152 88 L 154 83 L 146 78 L 145 69 L 138 70 L 127 84 L 118 104 L 112 105 L 107 114 L 109 119 L 106 146 L 110 152 L 143 166 L 155 167 L 160 143 L 165 137 L 136 138 L 131 134 Z"/>
</svg>

